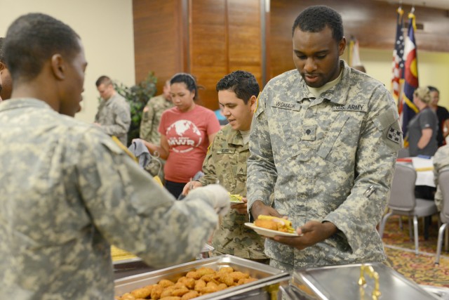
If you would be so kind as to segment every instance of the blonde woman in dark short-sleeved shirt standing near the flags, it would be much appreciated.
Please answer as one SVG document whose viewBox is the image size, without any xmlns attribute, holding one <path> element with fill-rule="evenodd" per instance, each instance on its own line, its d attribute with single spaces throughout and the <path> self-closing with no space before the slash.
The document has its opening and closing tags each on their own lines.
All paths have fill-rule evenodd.
<svg viewBox="0 0 449 300">
<path fill-rule="evenodd" d="M 431 97 L 427 87 L 420 87 L 413 93 L 413 103 L 420 112 L 408 123 L 410 156 L 433 156 L 438 149 L 436 132 L 438 119 L 430 108 Z"/>
</svg>

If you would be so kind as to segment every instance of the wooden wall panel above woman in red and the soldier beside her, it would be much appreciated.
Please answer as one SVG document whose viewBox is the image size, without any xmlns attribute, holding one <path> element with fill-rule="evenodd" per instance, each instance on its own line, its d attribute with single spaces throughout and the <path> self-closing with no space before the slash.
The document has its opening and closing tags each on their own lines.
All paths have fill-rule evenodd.
<svg viewBox="0 0 449 300">
<path fill-rule="evenodd" d="M 262 83 L 260 0 L 190 0 L 189 15 L 189 70 L 204 87 L 199 103 L 217 109 L 217 81 L 235 70 Z"/>
</svg>

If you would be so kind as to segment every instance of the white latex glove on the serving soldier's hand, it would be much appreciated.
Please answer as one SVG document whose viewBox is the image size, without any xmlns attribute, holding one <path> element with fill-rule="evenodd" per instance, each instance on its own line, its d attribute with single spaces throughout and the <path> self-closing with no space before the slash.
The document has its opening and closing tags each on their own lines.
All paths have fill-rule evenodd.
<svg viewBox="0 0 449 300">
<path fill-rule="evenodd" d="M 225 216 L 225 214 L 227 214 L 231 203 L 229 201 L 228 191 L 219 184 L 210 184 L 204 187 L 195 188 L 189 192 L 185 200 L 193 198 L 206 200 L 220 216 Z"/>
</svg>

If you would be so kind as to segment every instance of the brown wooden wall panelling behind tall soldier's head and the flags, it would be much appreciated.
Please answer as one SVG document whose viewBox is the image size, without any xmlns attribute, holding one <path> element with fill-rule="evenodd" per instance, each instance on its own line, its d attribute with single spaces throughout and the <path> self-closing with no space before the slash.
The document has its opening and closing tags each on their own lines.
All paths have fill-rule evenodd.
<svg viewBox="0 0 449 300">
<path fill-rule="evenodd" d="M 292 58 L 293 22 L 304 8 L 318 4 L 330 6 L 342 15 L 347 40 L 353 35 L 358 39 L 361 48 L 393 51 L 397 3 L 373 0 L 271 0 L 270 32 L 267 41 L 270 46 L 267 62 L 269 78 L 295 68 Z M 403 5 L 406 14 L 410 12 L 410 8 Z M 448 11 L 415 6 L 415 15 L 417 23 L 424 25 L 424 30 L 415 32 L 418 50 L 449 52 Z"/>
</svg>

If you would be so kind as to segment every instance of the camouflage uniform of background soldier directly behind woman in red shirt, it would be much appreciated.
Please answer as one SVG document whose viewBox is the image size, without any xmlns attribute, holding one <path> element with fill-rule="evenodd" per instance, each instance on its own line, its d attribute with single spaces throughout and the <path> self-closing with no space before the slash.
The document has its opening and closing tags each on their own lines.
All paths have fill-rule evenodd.
<svg viewBox="0 0 449 300">
<path fill-rule="evenodd" d="M 159 145 L 161 143 L 161 133 L 159 133 L 158 129 L 159 123 L 161 123 L 162 112 L 173 106 L 173 103 L 163 98 L 163 95 L 149 99 L 142 112 L 140 138 L 149 143 Z"/>
</svg>

